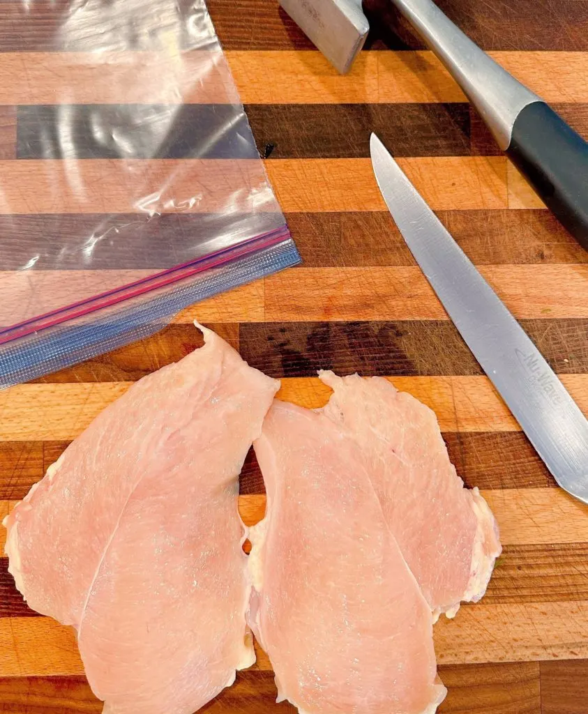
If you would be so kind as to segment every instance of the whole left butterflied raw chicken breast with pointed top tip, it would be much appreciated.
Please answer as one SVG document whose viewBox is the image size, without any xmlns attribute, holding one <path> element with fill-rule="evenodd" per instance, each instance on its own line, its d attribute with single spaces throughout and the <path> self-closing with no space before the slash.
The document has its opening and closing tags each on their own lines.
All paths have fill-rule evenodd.
<svg viewBox="0 0 588 714">
<path fill-rule="evenodd" d="M 108 714 L 189 714 L 254 662 L 238 477 L 279 383 L 211 331 L 69 446 L 6 522 L 31 608 Z"/>
</svg>

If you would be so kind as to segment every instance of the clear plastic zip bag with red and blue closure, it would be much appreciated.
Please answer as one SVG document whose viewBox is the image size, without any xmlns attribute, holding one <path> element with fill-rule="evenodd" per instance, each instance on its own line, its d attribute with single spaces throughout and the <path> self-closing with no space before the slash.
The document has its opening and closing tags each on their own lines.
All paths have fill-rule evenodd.
<svg viewBox="0 0 588 714">
<path fill-rule="evenodd" d="M 34 11 L 22 0 L 24 26 Z M 204 0 L 74 0 L 51 18 L 31 46 L 50 51 L 15 55 L 2 386 L 299 261 Z"/>
</svg>

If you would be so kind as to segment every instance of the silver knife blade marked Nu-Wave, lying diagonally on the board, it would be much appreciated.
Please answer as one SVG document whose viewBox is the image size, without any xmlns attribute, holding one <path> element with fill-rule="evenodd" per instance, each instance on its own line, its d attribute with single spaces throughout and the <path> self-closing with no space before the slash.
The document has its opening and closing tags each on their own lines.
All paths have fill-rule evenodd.
<svg viewBox="0 0 588 714">
<path fill-rule="evenodd" d="M 588 421 L 375 134 L 372 166 L 415 260 L 559 486 L 588 503 Z"/>
</svg>

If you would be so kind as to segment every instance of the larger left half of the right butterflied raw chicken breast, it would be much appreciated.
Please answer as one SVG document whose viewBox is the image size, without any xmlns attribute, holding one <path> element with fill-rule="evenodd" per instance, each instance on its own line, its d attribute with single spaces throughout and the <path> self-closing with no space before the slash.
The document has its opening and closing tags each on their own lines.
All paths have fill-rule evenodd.
<svg viewBox="0 0 588 714">
<path fill-rule="evenodd" d="M 254 633 L 279 700 L 310 714 L 432 713 L 432 615 L 362 453 L 320 413 L 274 402 L 254 443 L 267 491 L 251 529 Z"/>
</svg>

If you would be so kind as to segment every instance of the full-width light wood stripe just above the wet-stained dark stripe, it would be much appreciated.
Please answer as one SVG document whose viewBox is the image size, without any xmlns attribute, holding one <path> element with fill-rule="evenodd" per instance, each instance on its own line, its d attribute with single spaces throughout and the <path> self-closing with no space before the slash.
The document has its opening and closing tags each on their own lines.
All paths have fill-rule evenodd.
<svg viewBox="0 0 588 714">
<path fill-rule="evenodd" d="M 479 266 L 484 278 L 517 318 L 587 318 L 588 265 Z M 152 271 L 150 271 L 152 273 Z M 148 271 L 60 271 L 0 273 L 8 298 L 0 302 L 0 324 L 19 323 L 68 302 L 91 297 Z M 10 289 L 7 288 L 10 286 Z M 172 321 L 302 322 L 355 320 L 448 320 L 418 267 L 297 268 L 241 286 L 181 311 Z"/>
</svg>

